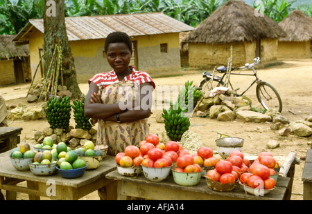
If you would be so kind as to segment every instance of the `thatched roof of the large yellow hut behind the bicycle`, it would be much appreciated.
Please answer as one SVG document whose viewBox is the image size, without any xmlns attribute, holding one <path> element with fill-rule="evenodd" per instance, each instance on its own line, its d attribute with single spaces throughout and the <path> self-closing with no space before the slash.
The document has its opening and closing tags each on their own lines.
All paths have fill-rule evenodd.
<svg viewBox="0 0 312 214">
<path fill-rule="evenodd" d="M 184 42 L 232 43 L 277 39 L 286 33 L 275 21 L 243 1 L 227 1 L 189 33 Z"/>
</svg>

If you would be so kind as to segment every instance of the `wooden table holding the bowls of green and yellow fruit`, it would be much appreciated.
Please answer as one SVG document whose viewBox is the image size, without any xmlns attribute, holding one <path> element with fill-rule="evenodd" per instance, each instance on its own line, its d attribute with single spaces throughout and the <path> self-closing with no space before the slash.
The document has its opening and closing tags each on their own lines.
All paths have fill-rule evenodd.
<svg viewBox="0 0 312 214">
<path fill-rule="evenodd" d="M 105 178 L 107 173 L 116 169 L 114 156 L 106 155 L 98 168 L 85 171 L 82 177 L 65 179 L 58 172 L 51 176 L 37 176 L 31 171 L 17 171 L 9 155 L 10 150 L 0 154 L 0 189 L 6 190 L 7 200 L 16 200 L 16 192 L 28 194 L 30 200 L 40 200 L 40 196 L 53 200 L 78 200 L 103 186 L 108 189 L 116 186 L 116 182 Z M 16 185 L 24 181 L 27 187 Z M 107 200 L 116 200 L 116 191 L 107 191 L 106 196 Z"/>
</svg>

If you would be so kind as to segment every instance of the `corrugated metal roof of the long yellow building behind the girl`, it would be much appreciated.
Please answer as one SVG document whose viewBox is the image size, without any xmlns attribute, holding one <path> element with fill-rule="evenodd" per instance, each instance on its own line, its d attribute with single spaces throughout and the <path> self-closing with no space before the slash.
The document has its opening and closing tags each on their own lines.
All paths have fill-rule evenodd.
<svg viewBox="0 0 312 214">
<path fill-rule="evenodd" d="M 103 39 L 110 32 L 123 31 L 131 36 L 157 35 L 169 32 L 184 32 L 195 28 L 168 17 L 162 12 L 140 14 L 115 14 L 90 17 L 65 17 L 69 41 Z M 35 26 L 44 33 L 43 19 L 31 19 L 17 34 L 14 41 L 28 38 L 29 28 Z"/>
</svg>

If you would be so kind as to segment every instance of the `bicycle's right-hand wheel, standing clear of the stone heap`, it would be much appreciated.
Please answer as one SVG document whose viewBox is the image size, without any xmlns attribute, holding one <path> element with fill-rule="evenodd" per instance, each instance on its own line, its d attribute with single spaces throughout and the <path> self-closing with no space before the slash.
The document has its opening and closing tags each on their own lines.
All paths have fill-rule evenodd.
<svg viewBox="0 0 312 214">
<path fill-rule="evenodd" d="M 283 108 L 281 97 L 279 97 L 279 93 L 277 93 L 277 90 L 273 86 L 266 82 L 261 82 L 257 85 L 256 95 L 263 108 L 266 110 L 274 108 L 281 113 L 281 109 Z"/>
</svg>

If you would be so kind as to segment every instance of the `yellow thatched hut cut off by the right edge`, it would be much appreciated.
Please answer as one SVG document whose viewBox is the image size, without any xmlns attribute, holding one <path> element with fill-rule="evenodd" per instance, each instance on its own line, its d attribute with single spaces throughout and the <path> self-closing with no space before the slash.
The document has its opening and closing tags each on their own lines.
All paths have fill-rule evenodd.
<svg viewBox="0 0 312 214">
<path fill-rule="evenodd" d="M 300 10 L 293 10 L 279 22 L 286 37 L 279 39 L 277 57 L 304 59 L 312 57 L 312 18 Z"/>
</svg>

